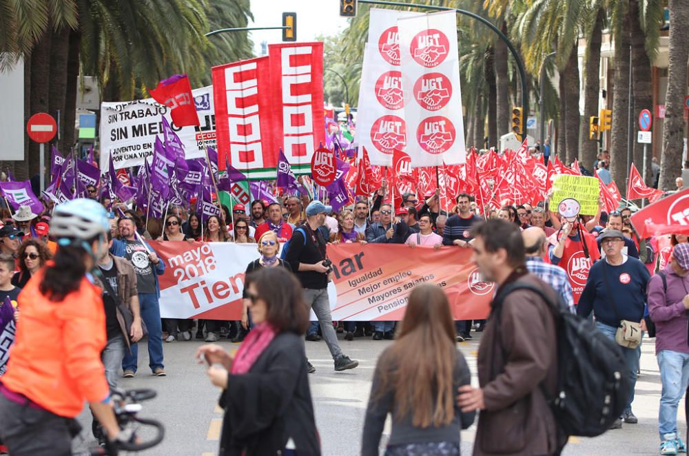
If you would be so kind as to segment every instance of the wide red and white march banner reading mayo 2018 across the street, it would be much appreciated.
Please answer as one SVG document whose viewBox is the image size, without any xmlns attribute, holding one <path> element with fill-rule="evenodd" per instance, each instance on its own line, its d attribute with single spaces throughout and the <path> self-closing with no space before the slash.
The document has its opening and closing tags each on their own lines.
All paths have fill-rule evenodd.
<svg viewBox="0 0 689 456">
<path fill-rule="evenodd" d="M 150 243 L 166 266 L 160 278 L 163 318 L 240 319 L 244 273 L 258 258 L 255 245 Z M 402 245 L 329 245 L 333 320 L 401 320 L 409 293 L 422 283 L 444 289 L 456 320 L 486 318 L 495 285 L 482 279 L 471 251 L 460 250 L 420 247 L 410 255 Z"/>
</svg>

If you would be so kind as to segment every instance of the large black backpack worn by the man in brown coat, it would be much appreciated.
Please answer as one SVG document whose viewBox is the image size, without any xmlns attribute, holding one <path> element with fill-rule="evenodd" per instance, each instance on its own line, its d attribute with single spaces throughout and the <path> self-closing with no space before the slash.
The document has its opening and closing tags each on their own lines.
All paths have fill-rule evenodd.
<svg viewBox="0 0 689 456">
<path fill-rule="evenodd" d="M 495 297 L 493 313 L 500 322 L 502 301 L 511 292 L 527 289 L 540 296 L 555 317 L 557 334 L 557 390 L 551 397 L 541 384 L 555 422 L 566 435 L 595 437 L 608 431 L 629 400 L 629 370 L 621 349 L 592 322 L 552 302 L 537 287 L 524 282 L 506 285 Z"/>
</svg>

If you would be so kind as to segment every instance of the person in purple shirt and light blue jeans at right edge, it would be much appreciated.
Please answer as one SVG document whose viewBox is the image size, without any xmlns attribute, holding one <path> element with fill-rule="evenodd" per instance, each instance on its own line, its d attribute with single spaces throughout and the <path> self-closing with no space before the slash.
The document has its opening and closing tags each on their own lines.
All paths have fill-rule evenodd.
<svg viewBox="0 0 689 456">
<path fill-rule="evenodd" d="M 686 453 L 677 431 L 677 407 L 689 384 L 689 244 L 672 249 L 670 264 L 648 282 L 648 314 L 655 323 L 655 355 L 663 389 L 658 413 L 660 454 Z"/>
</svg>

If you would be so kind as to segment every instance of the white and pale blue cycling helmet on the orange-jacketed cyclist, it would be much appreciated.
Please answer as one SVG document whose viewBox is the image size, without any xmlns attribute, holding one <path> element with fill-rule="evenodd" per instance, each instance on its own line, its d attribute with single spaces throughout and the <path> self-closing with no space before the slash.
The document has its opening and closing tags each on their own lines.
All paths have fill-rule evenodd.
<svg viewBox="0 0 689 456">
<path fill-rule="evenodd" d="M 77 198 L 57 205 L 50 220 L 50 235 L 56 239 L 89 240 L 110 230 L 105 207 L 96 200 Z"/>
</svg>

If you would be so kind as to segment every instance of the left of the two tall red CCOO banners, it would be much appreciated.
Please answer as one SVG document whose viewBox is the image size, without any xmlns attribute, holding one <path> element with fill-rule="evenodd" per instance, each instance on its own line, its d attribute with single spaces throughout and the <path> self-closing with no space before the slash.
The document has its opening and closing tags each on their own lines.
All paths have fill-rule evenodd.
<svg viewBox="0 0 689 456">
<path fill-rule="evenodd" d="M 214 67 L 218 169 L 227 162 L 252 177 L 275 177 L 274 101 L 268 57 Z M 322 118 L 322 114 L 321 117 Z M 252 171 L 253 170 L 253 171 Z"/>
</svg>

